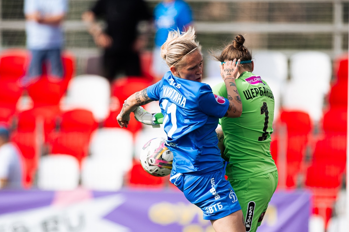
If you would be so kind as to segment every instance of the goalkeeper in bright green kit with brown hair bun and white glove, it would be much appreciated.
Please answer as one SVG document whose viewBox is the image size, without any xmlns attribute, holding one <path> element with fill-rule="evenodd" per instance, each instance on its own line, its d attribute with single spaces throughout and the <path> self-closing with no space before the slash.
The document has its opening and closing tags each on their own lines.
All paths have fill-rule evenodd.
<svg viewBox="0 0 349 232">
<path fill-rule="evenodd" d="M 217 128 L 218 146 L 222 157 L 228 161 L 226 175 L 240 202 L 246 232 L 255 232 L 260 226 L 268 203 L 278 182 L 275 162 L 270 154 L 270 135 L 273 133 L 274 96 L 268 84 L 254 75 L 250 51 L 243 45 L 245 38 L 238 35 L 220 54 L 220 62 L 240 59 L 238 78 L 235 80 L 243 103 L 239 118 L 222 118 L 222 128 Z M 213 93 L 227 95 L 224 83 L 213 87 Z M 137 120 L 158 127 L 161 113 L 150 114 L 142 107 L 135 110 Z"/>
</svg>

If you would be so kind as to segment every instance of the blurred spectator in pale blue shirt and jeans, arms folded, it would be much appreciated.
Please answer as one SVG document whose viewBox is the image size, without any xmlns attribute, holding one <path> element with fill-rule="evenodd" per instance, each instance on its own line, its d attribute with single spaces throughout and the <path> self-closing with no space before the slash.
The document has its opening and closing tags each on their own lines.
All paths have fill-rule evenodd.
<svg viewBox="0 0 349 232">
<path fill-rule="evenodd" d="M 62 22 L 67 8 L 67 0 L 24 0 L 27 48 L 31 52 L 31 61 L 27 74 L 21 79 L 21 85 L 28 86 L 39 80 L 43 65 L 50 81 L 62 80 Z"/>
</svg>

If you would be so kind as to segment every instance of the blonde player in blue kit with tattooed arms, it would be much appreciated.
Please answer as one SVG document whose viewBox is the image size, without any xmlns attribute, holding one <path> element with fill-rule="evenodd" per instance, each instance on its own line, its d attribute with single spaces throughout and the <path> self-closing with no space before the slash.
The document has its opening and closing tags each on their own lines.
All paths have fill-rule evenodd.
<svg viewBox="0 0 349 232">
<path fill-rule="evenodd" d="M 240 117 L 242 103 L 235 85 L 240 60 L 220 66 L 228 99 L 214 95 L 201 83 L 201 46 L 195 30 L 170 31 L 161 47 L 161 57 L 170 71 L 154 85 L 129 96 L 117 117 L 127 127 L 138 106 L 159 101 L 164 115 L 166 146 L 173 153 L 170 181 L 198 206 L 203 218 L 216 232 L 245 231 L 243 213 L 231 184 L 225 179 L 225 165 L 218 149 L 216 127 L 219 118 Z"/>
</svg>

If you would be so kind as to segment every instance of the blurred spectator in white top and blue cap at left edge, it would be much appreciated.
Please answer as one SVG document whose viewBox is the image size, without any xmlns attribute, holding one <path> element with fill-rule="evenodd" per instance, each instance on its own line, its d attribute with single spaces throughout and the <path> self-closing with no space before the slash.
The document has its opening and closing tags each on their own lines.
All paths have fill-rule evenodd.
<svg viewBox="0 0 349 232">
<path fill-rule="evenodd" d="M 21 153 L 9 142 L 9 129 L 0 125 L 0 188 L 21 188 L 23 164 Z"/>
</svg>

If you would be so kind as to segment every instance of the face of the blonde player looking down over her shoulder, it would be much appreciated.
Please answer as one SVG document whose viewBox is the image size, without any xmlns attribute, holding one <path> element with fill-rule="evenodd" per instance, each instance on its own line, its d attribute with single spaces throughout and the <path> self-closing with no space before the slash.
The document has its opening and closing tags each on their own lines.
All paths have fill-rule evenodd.
<svg viewBox="0 0 349 232">
<path fill-rule="evenodd" d="M 181 63 L 183 65 L 177 68 L 179 78 L 201 82 L 202 54 L 198 49 L 185 56 Z"/>
</svg>

